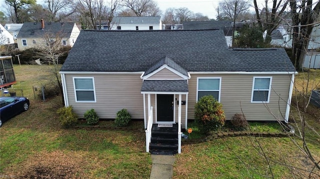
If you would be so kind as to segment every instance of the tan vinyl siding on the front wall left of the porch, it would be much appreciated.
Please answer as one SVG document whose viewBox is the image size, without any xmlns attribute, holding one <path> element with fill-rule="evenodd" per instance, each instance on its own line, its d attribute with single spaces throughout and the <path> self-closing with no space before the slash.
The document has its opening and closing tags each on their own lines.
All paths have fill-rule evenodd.
<svg viewBox="0 0 320 179">
<path fill-rule="evenodd" d="M 65 74 L 68 104 L 80 118 L 86 110 L 93 108 L 100 119 L 114 119 L 117 111 L 126 108 L 132 119 L 143 119 L 140 75 Z M 95 103 L 75 102 L 72 77 L 94 77 Z"/>
</svg>

